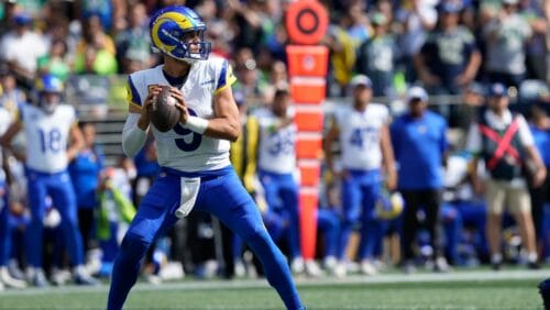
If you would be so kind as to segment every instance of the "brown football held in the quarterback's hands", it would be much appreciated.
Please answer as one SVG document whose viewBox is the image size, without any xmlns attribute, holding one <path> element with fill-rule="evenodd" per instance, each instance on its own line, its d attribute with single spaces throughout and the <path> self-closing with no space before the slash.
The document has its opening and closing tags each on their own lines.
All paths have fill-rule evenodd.
<svg viewBox="0 0 550 310">
<path fill-rule="evenodd" d="M 172 130 L 179 121 L 182 112 L 176 107 L 176 99 L 172 97 L 169 86 L 162 86 L 156 100 L 147 106 L 151 122 L 160 132 Z"/>
</svg>

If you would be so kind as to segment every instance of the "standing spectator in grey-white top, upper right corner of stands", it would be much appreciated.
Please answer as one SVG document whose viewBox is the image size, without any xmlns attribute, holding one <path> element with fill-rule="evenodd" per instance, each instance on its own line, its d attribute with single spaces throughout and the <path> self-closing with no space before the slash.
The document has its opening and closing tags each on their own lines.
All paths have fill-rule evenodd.
<svg viewBox="0 0 550 310">
<path fill-rule="evenodd" d="M 519 88 L 526 77 L 525 44 L 532 30 L 517 13 L 517 4 L 518 0 L 503 0 L 498 14 L 484 24 L 483 38 L 490 82 Z"/>
</svg>

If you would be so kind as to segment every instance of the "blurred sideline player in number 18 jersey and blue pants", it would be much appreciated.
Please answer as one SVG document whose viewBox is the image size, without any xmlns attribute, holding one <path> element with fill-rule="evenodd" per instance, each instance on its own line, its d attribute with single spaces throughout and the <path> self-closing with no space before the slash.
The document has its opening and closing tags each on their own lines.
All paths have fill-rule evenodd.
<svg viewBox="0 0 550 310">
<path fill-rule="evenodd" d="M 31 284 L 38 287 L 47 285 L 42 269 L 42 220 L 46 196 L 52 197 L 62 215 L 63 234 L 75 283 L 97 283 L 84 268 L 82 239 L 78 230 L 75 192 L 67 171 L 68 162 L 81 148 L 82 135 L 76 123 L 75 109 L 69 104 L 59 104 L 63 90 L 63 82 L 52 75 L 37 79 L 34 89 L 37 104 L 22 106 L 20 119 L 10 125 L 0 140 L 3 147 L 16 154 L 18 151 L 11 147 L 11 142 L 15 134 L 24 130 L 26 151 L 18 157 L 25 162 L 31 209 L 31 222 L 25 232 L 28 275 Z"/>
</svg>

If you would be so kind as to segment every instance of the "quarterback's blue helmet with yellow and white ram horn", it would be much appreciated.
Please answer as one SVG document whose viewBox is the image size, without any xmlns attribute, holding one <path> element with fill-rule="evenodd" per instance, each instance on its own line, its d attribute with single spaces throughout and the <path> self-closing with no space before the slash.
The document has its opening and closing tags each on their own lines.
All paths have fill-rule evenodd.
<svg viewBox="0 0 550 310">
<path fill-rule="evenodd" d="M 205 41 L 206 23 L 191 9 L 184 5 L 170 5 L 157 11 L 150 22 L 153 48 L 173 58 L 194 63 L 208 59 L 211 44 Z M 197 32 L 200 38 L 198 52 L 191 52 L 191 44 L 186 35 Z"/>
</svg>

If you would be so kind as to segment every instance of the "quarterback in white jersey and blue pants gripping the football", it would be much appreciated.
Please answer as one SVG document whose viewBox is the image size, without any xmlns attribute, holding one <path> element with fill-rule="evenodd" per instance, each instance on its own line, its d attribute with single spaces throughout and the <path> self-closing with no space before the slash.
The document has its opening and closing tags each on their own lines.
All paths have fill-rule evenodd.
<svg viewBox="0 0 550 310">
<path fill-rule="evenodd" d="M 130 75 L 122 147 L 128 156 L 135 156 L 147 132 L 153 131 L 161 173 L 122 241 L 107 308 L 122 308 L 138 279 L 140 262 L 155 237 L 196 210 L 218 217 L 239 234 L 263 263 L 268 283 L 286 308 L 304 309 L 285 257 L 229 160 L 230 141 L 241 132 L 231 67 L 223 58 L 209 57 L 210 43 L 204 41 L 207 26 L 186 7 L 160 10 L 150 27 L 164 65 Z M 172 86 L 182 111 L 179 123 L 164 133 L 150 124 L 146 112 L 160 92 L 158 85 Z"/>
</svg>

